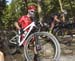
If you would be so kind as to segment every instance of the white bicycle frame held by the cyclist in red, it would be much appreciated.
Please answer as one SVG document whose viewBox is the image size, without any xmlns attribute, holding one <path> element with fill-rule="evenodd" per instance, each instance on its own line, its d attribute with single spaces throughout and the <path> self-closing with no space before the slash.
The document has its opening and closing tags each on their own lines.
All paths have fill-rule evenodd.
<svg viewBox="0 0 75 61">
<path fill-rule="evenodd" d="M 19 46 L 21 46 L 21 45 L 24 43 L 24 41 L 27 39 L 27 37 L 28 37 L 28 35 L 30 34 L 30 32 L 31 32 L 31 30 L 33 29 L 33 27 L 36 27 L 35 22 L 32 22 L 32 23 L 29 24 L 26 28 L 23 29 L 23 31 L 25 31 L 25 32 L 24 32 L 25 37 L 23 38 L 22 41 L 20 40 L 20 37 L 21 37 L 20 33 L 21 33 L 21 32 L 20 32 L 20 30 L 18 30 L 19 34 L 17 34 L 17 35 L 14 36 L 12 39 L 10 39 L 10 40 L 9 40 L 10 43 L 16 44 L 16 43 L 15 43 L 16 41 L 15 41 L 15 42 L 12 42 L 12 40 L 15 39 L 16 37 L 18 37 L 18 44 L 19 44 Z M 27 29 L 29 29 L 28 32 L 26 31 Z"/>
</svg>

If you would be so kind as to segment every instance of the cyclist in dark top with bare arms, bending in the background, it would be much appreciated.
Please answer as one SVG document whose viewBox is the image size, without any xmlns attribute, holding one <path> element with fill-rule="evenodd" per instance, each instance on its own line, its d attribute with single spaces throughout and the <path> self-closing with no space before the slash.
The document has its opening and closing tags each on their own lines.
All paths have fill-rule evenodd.
<svg viewBox="0 0 75 61">
<path fill-rule="evenodd" d="M 52 13 L 49 17 L 48 20 L 43 21 L 43 25 L 50 27 L 50 32 L 52 32 L 56 22 L 60 23 L 65 22 L 65 15 L 66 13 L 62 12 L 62 13 Z"/>
</svg>

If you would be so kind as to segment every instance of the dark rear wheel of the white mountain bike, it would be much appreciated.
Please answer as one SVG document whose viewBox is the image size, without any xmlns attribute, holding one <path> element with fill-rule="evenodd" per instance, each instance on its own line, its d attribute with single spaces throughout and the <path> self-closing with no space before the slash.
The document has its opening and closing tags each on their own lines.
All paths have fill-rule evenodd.
<svg viewBox="0 0 75 61">
<path fill-rule="evenodd" d="M 7 53 L 9 54 L 15 54 L 17 51 L 17 44 L 10 43 L 10 39 L 16 35 L 15 31 L 10 31 L 10 33 L 7 35 L 7 40 L 4 42 L 4 46 L 7 50 Z M 15 37 L 12 41 L 16 42 L 17 37 Z"/>
</svg>

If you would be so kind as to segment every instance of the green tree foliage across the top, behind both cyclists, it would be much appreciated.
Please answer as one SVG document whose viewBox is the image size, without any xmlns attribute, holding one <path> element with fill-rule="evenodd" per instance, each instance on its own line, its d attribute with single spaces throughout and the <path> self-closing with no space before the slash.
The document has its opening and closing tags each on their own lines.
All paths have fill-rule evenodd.
<svg viewBox="0 0 75 61">
<path fill-rule="evenodd" d="M 61 1 L 63 4 L 63 9 L 68 11 L 68 16 L 74 16 L 75 0 Z M 41 15 L 45 20 L 49 17 L 51 13 L 60 11 L 58 0 L 41 0 L 41 2 L 39 3 L 42 8 Z M 27 2 L 24 2 L 24 0 L 12 0 L 11 4 L 4 5 L 4 10 L 0 12 L 0 27 L 2 27 L 3 29 L 13 28 L 14 22 L 17 21 L 20 16 L 27 13 L 27 6 L 30 4 L 38 5 L 38 0 L 27 0 Z M 38 13 L 36 17 L 38 17 Z"/>
</svg>

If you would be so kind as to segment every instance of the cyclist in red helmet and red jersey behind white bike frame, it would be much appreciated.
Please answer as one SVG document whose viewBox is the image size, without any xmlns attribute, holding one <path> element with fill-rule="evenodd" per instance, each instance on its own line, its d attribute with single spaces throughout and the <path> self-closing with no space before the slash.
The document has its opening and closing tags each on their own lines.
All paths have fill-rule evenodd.
<svg viewBox="0 0 75 61">
<path fill-rule="evenodd" d="M 21 34 L 24 33 L 23 29 L 27 27 L 30 23 L 32 23 L 33 21 L 32 18 L 35 16 L 35 11 L 36 11 L 36 6 L 29 5 L 27 15 L 23 15 L 17 22 L 15 22 L 15 26 L 18 30 L 21 31 Z"/>
</svg>

